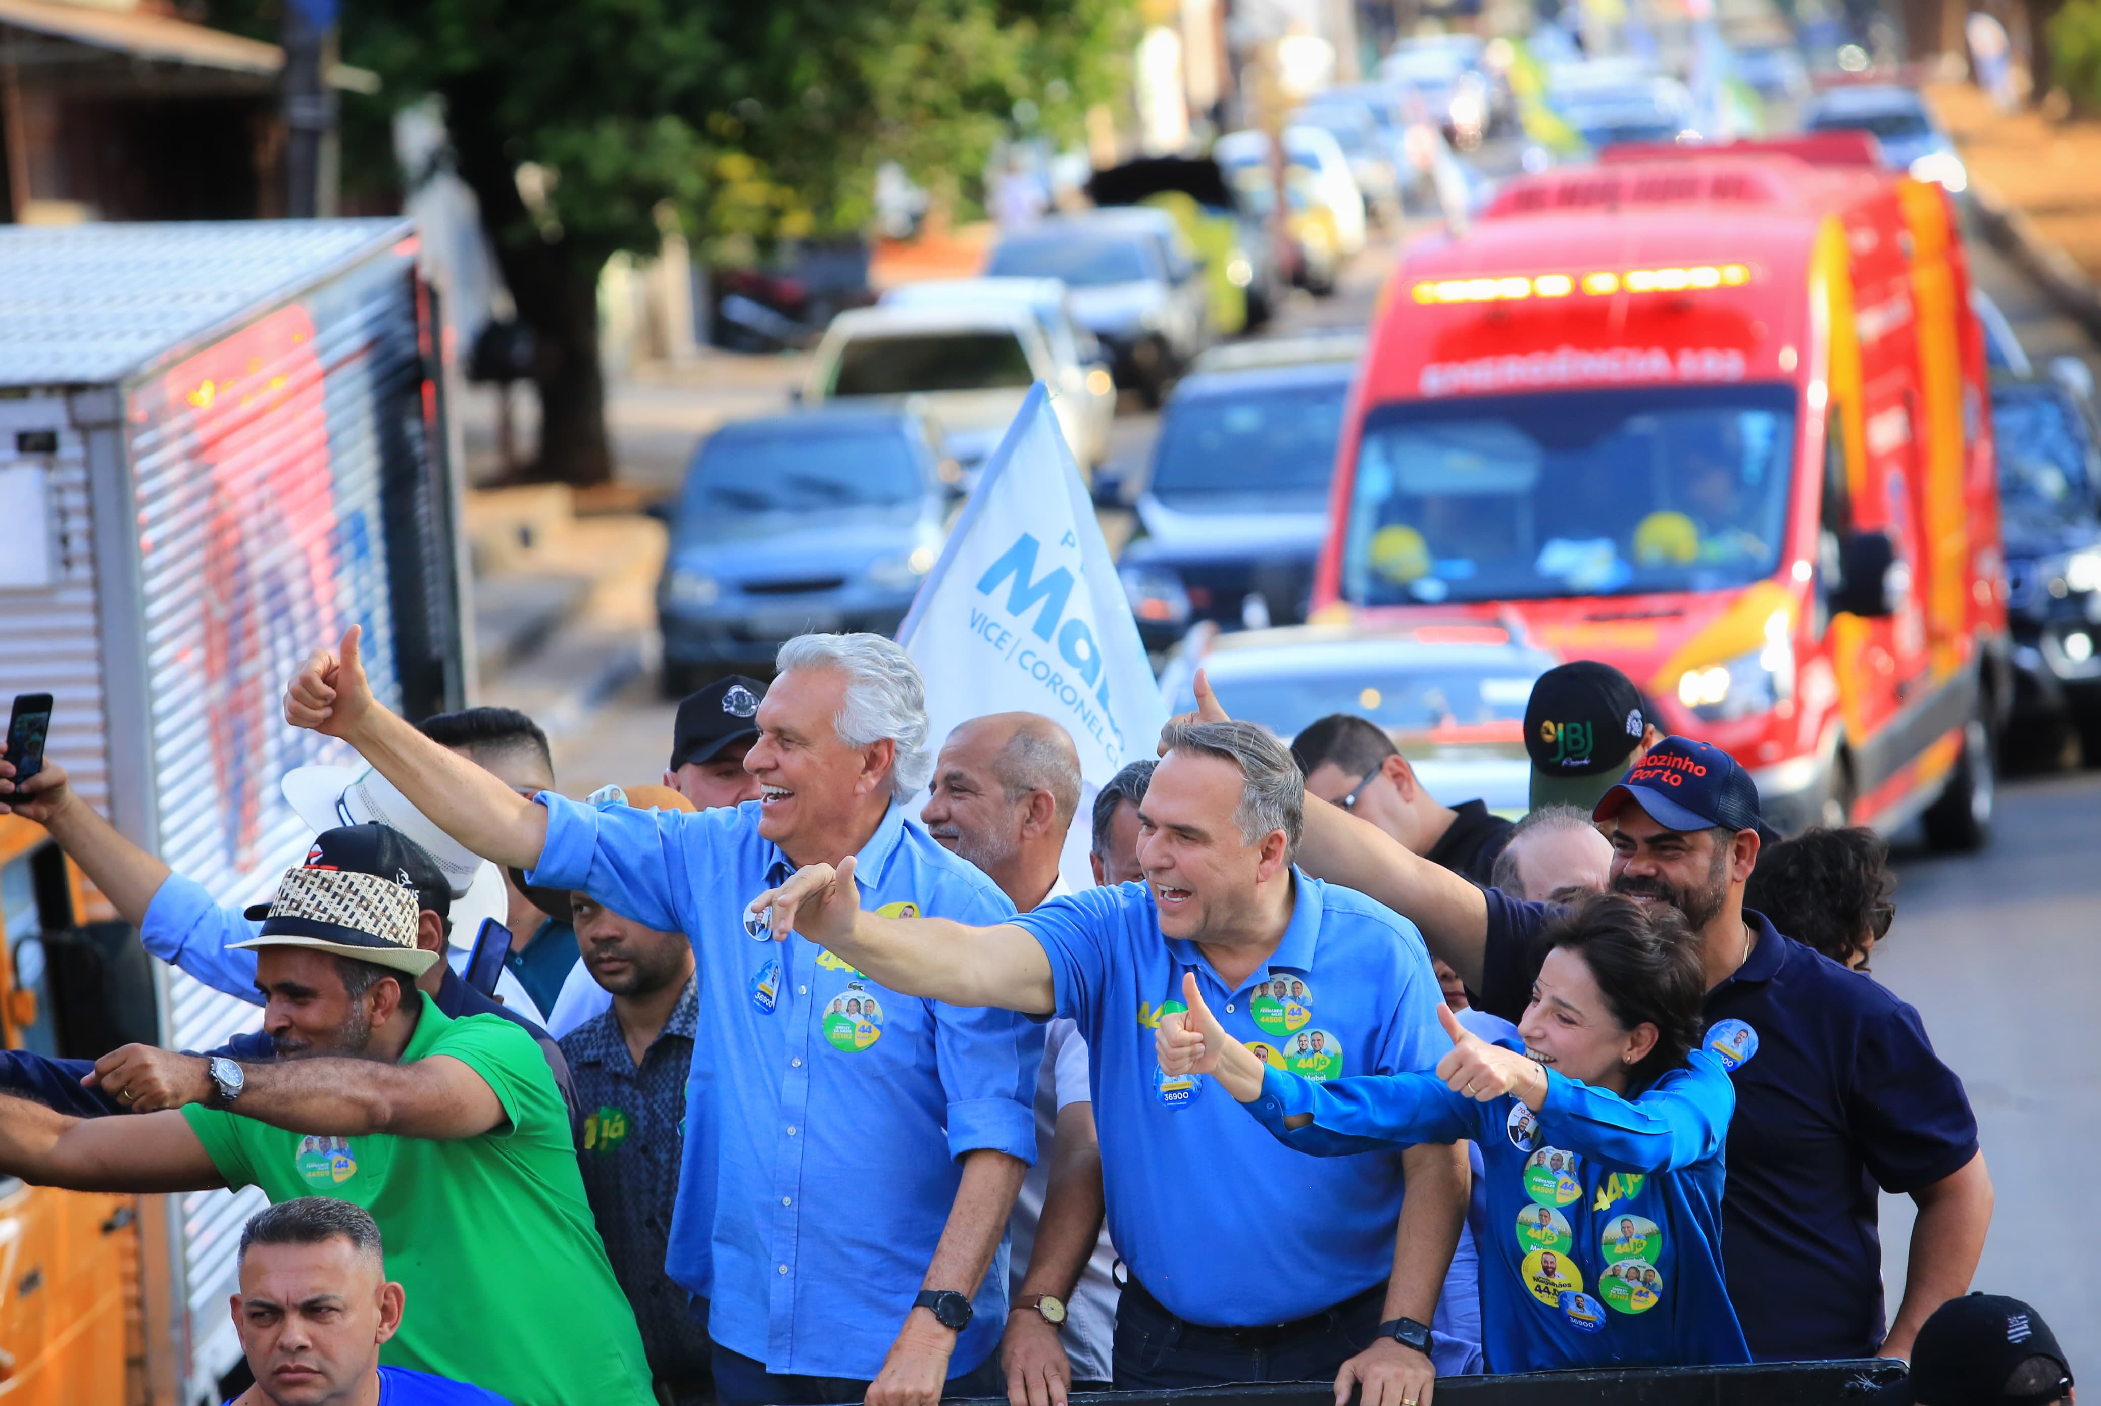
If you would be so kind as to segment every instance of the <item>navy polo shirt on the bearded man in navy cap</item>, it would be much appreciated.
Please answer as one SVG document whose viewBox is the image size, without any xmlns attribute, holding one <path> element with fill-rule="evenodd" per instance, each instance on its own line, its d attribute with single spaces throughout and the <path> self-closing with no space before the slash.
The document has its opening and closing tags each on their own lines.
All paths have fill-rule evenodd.
<svg viewBox="0 0 2101 1406">
<path fill-rule="evenodd" d="M 1481 1005 L 1523 1013 L 1544 904 L 1488 891 Z M 1729 1297 L 1761 1362 L 1870 1358 L 1882 1345 L 1876 1187 L 1906 1196 L 1977 1156 L 1962 1080 L 1918 1011 L 1782 937 L 1706 996 L 1706 1047 L 1735 1082 L 1723 1198 Z"/>
</svg>

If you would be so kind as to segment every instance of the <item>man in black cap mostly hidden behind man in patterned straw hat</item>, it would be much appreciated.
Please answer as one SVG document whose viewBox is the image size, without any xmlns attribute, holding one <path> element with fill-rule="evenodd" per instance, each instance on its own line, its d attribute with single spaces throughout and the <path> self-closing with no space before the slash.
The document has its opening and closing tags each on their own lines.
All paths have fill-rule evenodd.
<svg viewBox="0 0 2101 1406">
<path fill-rule="evenodd" d="M 384 878 L 395 878 L 397 883 L 405 881 L 403 887 L 416 893 L 416 946 L 424 952 L 445 950 L 452 889 L 445 885 L 445 874 L 437 866 L 437 860 L 424 853 L 420 845 L 403 836 L 399 830 L 389 830 L 380 824 L 324 830 L 307 849 L 303 868 L 380 874 Z M 269 904 L 256 904 L 244 916 L 261 921 L 267 914 Z M 471 988 L 458 977 L 458 973 L 452 971 L 450 963 L 431 963 L 431 967 L 416 977 L 416 988 L 429 992 L 431 1000 L 437 1002 L 437 1009 L 448 1019 L 458 1019 L 462 1015 L 500 1015 L 506 1021 L 521 1026 L 540 1047 L 540 1055 L 546 1059 L 548 1072 L 555 1076 L 555 1087 L 561 1089 L 563 1103 L 567 1103 L 571 1112 L 576 1110 L 576 1089 L 569 1078 L 569 1061 L 563 1057 L 561 1045 L 557 1045 L 546 1030 L 540 1030 L 540 1026 L 532 1024 L 517 1011 L 511 1011 L 502 1002 L 490 1000 Z M 149 1047 L 126 1049 L 143 1051 Z M 277 1051 L 271 1045 L 269 1034 L 263 1030 L 237 1034 L 223 1047 L 210 1051 L 210 1055 L 223 1055 L 240 1061 L 273 1059 L 275 1053 Z M 105 1055 L 105 1061 L 107 1059 L 116 1059 L 116 1055 Z M 0 1051 L 0 1091 L 34 1099 L 76 1118 L 181 1108 L 187 1101 L 206 1097 L 195 1078 L 174 1078 L 174 1074 L 183 1070 L 195 1074 L 195 1066 L 174 1059 L 139 1059 L 137 1063 L 151 1068 L 141 1068 L 139 1076 L 130 1080 L 128 1091 L 132 1093 L 132 1099 L 120 1101 L 107 1091 L 107 1087 L 101 1084 L 101 1080 L 84 1082 L 97 1068 L 86 1059 L 48 1059 L 27 1051 Z"/>
</svg>

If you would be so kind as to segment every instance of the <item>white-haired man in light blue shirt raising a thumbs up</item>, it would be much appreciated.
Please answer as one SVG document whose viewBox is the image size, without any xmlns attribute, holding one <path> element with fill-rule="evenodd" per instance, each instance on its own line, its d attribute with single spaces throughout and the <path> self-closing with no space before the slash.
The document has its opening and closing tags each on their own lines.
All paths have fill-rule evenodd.
<svg viewBox="0 0 2101 1406">
<path fill-rule="evenodd" d="M 885 988 L 817 944 L 773 946 L 744 910 L 798 866 L 849 855 L 885 912 L 994 925 L 1013 904 L 899 805 L 929 773 L 903 649 L 803 635 L 775 664 L 744 761 L 761 799 L 698 813 L 519 797 L 374 702 L 357 630 L 307 660 L 286 721 L 355 746 L 471 851 L 693 939 L 702 1011 L 666 1267 L 712 1303 L 725 1406 L 996 1395 L 1006 1284 L 987 1269 L 1036 1158 L 1042 1028 Z M 880 1024 L 828 1019 L 838 996 Z"/>
</svg>

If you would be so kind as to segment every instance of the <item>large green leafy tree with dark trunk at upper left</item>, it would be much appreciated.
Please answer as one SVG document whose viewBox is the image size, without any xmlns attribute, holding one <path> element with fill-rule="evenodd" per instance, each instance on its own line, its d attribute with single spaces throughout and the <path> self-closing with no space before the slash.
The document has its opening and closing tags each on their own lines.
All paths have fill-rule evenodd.
<svg viewBox="0 0 2101 1406">
<path fill-rule="evenodd" d="M 254 6 L 256 0 L 223 0 Z M 971 202 L 1017 103 L 1072 139 L 1128 84 L 1130 0 L 345 0 L 391 109 L 437 95 L 542 349 L 540 477 L 611 475 L 597 277 L 674 212 L 702 250 L 857 231 L 897 160 Z M 357 145 L 353 143 L 353 151 Z M 519 193 L 534 164 L 542 195 Z"/>
</svg>

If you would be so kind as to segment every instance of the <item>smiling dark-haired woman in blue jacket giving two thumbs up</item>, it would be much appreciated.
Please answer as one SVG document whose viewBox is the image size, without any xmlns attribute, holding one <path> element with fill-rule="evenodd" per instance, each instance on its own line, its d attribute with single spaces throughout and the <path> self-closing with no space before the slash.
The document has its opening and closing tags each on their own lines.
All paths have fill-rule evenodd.
<svg viewBox="0 0 2101 1406">
<path fill-rule="evenodd" d="M 1674 908 L 1599 893 L 1542 933 L 1523 1051 L 1441 1011 L 1437 1074 L 1313 1082 L 1229 1038 L 1185 981 L 1168 1074 L 1212 1074 L 1286 1145 L 1351 1156 L 1471 1137 L 1488 1169 L 1492 1372 L 1750 1362 L 1721 1269 L 1735 1089 L 1700 1040 L 1700 944 Z"/>
</svg>

